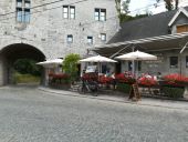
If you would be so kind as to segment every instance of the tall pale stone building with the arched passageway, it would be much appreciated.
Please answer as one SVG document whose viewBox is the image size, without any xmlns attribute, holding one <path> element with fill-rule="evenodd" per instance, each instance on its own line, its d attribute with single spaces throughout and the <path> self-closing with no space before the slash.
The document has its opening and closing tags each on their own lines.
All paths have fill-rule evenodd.
<svg viewBox="0 0 188 142">
<path fill-rule="evenodd" d="M 118 31 L 114 0 L 1 0 L 0 85 L 12 82 L 17 59 L 84 55 Z"/>
</svg>

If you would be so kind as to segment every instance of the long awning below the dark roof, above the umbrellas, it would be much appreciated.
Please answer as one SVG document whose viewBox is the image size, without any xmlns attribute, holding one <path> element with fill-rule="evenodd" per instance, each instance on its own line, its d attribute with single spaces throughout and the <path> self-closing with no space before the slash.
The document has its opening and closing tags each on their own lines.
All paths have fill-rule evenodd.
<svg viewBox="0 0 188 142">
<path fill-rule="evenodd" d="M 177 34 L 168 34 L 153 38 L 145 38 L 125 42 L 117 42 L 111 44 L 104 44 L 101 47 L 95 47 L 92 50 L 96 53 L 105 57 L 112 57 L 132 52 L 133 47 L 135 50 L 154 52 L 154 51 L 167 51 L 167 50 L 181 50 L 182 47 L 188 42 L 188 32 L 177 33 Z"/>
</svg>

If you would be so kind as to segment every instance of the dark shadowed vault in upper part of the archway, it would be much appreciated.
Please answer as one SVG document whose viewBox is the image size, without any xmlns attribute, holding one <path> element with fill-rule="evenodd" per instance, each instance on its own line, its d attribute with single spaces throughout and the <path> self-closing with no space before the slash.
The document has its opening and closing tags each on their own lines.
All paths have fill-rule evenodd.
<svg viewBox="0 0 188 142">
<path fill-rule="evenodd" d="M 36 48 L 18 43 L 18 44 L 11 44 L 6 47 L 1 53 L 9 60 L 9 61 L 15 61 L 17 59 L 33 59 L 35 61 L 44 61 L 45 57 L 44 54 L 38 50 Z"/>
</svg>

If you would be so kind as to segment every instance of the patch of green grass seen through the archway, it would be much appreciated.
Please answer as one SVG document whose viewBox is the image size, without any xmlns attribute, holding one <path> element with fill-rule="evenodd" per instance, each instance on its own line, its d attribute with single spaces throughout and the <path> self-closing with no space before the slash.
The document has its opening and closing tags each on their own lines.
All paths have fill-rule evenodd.
<svg viewBox="0 0 188 142">
<path fill-rule="evenodd" d="M 40 77 L 32 74 L 21 74 L 19 72 L 14 73 L 15 83 L 39 83 Z"/>
</svg>

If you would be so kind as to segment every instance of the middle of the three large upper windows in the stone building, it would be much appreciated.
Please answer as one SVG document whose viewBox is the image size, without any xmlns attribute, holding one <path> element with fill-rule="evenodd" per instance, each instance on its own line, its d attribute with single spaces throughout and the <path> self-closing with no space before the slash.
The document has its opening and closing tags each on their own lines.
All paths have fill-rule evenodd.
<svg viewBox="0 0 188 142">
<path fill-rule="evenodd" d="M 63 6 L 63 18 L 64 19 L 75 19 L 75 7 L 74 6 Z"/>
</svg>

